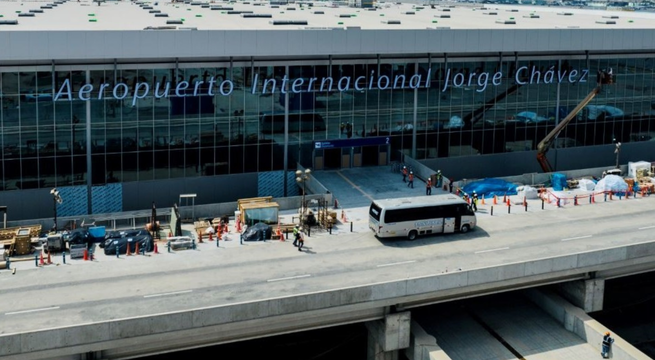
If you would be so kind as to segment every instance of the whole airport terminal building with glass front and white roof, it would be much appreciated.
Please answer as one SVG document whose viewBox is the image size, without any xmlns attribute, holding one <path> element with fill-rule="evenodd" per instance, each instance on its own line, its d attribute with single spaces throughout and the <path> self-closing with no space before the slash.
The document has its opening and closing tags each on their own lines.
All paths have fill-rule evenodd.
<svg viewBox="0 0 655 360">
<path fill-rule="evenodd" d="M 368 4 L 368 3 L 367 3 Z M 489 6 L 489 5 L 488 5 Z M 455 178 L 655 160 L 655 14 L 454 2 L 0 4 L 9 219 L 298 193 L 405 154 Z M 163 203 L 161 203 L 163 202 Z"/>
</svg>

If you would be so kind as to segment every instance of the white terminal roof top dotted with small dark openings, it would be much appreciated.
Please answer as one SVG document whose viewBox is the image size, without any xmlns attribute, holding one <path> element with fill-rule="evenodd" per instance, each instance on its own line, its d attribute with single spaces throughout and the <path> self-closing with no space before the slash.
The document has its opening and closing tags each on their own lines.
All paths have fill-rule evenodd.
<svg viewBox="0 0 655 360">
<path fill-rule="evenodd" d="M 655 13 L 455 2 L 365 9 L 331 2 L 3 1 L 0 15 L 0 31 L 655 28 Z"/>
</svg>

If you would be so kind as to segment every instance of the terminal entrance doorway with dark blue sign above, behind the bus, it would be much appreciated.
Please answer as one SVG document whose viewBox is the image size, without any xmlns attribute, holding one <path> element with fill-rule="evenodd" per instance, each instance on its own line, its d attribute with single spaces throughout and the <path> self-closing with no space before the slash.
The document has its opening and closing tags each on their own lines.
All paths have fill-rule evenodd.
<svg viewBox="0 0 655 360">
<path fill-rule="evenodd" d="M 350 169 L 388 163 L 388 138 L 362 138 L 314 143 L 314 169 Z"/>
</svg>

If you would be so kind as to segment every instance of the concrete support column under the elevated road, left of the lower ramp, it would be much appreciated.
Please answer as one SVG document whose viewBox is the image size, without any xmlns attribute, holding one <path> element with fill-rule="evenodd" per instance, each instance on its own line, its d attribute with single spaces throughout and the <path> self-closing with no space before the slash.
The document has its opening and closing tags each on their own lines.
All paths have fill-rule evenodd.
<svg viewBox="0 0 655 360">
<path fill-rule="evenodd" d="M 410 312 L 404 311 L 367 322 L 367 360 L 398 360 L 398 350 L 409 347 L 410 321 Z"/>
</svg>

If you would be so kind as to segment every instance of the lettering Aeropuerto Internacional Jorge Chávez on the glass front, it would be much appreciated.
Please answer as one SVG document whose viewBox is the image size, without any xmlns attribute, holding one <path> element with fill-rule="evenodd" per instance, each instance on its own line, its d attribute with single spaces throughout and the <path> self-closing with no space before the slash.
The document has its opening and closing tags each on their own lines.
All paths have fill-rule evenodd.
<svg viewBox="0 0 655 360">
<path fill-rule="evenodd" d="M 428 69 L 425 74 L 406 75 L 376 75 L 371 71 L 370 76 L 342 76 L 342 77 L 311 77 L 289 79 L 287 75 L 281 78 L 259 78 L 255 74 L 250 92 L 252 94 L 274 94 L 280 91 L 286 93 L 306 93 L 306 92 L 346 92 L 350 90 L 402 90 L 402 89 L 419 89 L 430 88 L 432 79 L 432 69 Z M 556 84 L 556 83 L 586 83 L 588 80 L 588 69 L 571 69 L 555 70 L 551 67 L 548 70 L 537 70 L 536 67 L 528 66 L 519 67 L 511 78 L 521 85 L 526 84 Z M 485 91 L 489 86 L 499 86 L 502 84 L 503 72 L 463 72 L 452 73 L 451 69 L 442 71 L 441 81 L 439 84 L 440 91 L 446 91 L 450 87 L 475 87 L 477 92 Z M 114 85 L 102 83 L 98 86 L 94 84 L 84 84 L 79 90 L 72 91 L 70 79 L 66 79 L 59 87 L 55 95 L 55 101 L 72 101 L 79 99 L 82 101 L 103 100 L 110 97 L 116 100 L 132 98 L 132 105 L 137 100 L 154 96 L 157 99 L 172 96 L 230 96 L 235 89 L 232 80 L 217 79 L 212 76 L 207 81 L 197 80 L 191 84 L 189 81 L 180 81 L 172 83 L 171 81 L 157 81 L 154 84 L 148 82 L 133 82 L 128 85 L 125 82 L 118 82 Z M 106 96 L 109 92 L 110 96 Z M 76 96 L 73 96 L 75 93 Z"/>
</svg>

